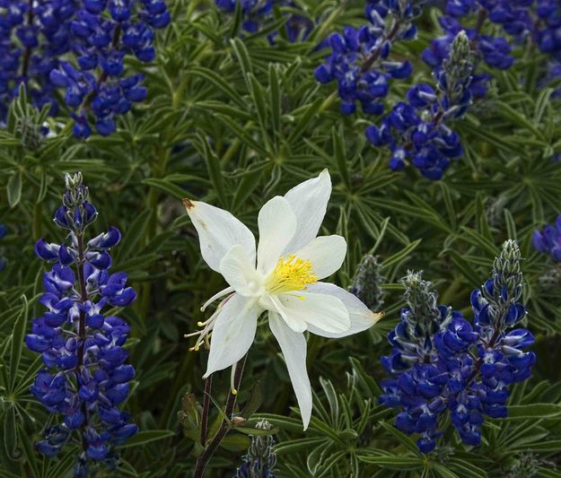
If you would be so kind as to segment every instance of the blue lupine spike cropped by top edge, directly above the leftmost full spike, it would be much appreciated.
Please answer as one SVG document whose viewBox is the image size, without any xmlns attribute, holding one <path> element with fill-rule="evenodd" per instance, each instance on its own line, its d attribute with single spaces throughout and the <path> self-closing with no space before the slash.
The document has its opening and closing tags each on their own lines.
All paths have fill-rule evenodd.
<svg viewBox="0 0 561 478">
<path fill-rule="evenodd" d="M 100 135 L 115 131 L 115 118 L 145 100 L 142 74 L 125 74 L 124 60 L 134 55 L 152 62 L 154 29 L 162 29 L 171 17 L 163 0 L 85 0 L 75 13 L 71 31 L 77 65 L 66 61 L 49 78 L 66 89 L 66 106 L 73 110 L 77 137 L 92 134 L 89 112 Z"/>
</svg>

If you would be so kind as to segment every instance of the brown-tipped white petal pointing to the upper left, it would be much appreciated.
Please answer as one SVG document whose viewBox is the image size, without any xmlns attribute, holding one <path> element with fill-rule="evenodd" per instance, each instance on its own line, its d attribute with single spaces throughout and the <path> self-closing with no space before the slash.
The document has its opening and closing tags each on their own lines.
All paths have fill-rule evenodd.
<svg viewBox="0 0 561 478">
<path fill-rule="evenodd" d="M 255 263 L 255 237 L 232 213 L 200 201 L 184 203 L 197 230 L 201 254 L 211 269 L 219 272 L 220 261 L 236 244 L 245 248 Z"/>
</svg>

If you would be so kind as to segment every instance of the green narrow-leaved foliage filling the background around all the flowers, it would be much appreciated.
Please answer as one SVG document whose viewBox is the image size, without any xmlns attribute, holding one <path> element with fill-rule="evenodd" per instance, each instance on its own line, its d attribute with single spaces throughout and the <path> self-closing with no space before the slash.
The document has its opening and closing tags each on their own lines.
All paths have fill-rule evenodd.
<svg viewBox="0 0 561 478">
<path fill-rule="evenodd" d="M 309 41 L 270 47 L 265 32 L 237 36 L 239 19 L 218 14 L 210 0 L 173 2 L 173 22 L 157 39 L 158 58 L 144 71 L 149 99 L 109 137 L 75 140 L 66 117 L 31 109 L 24 91 L 13 103 L 0 129 L 0 222 L 9 227 L 2 241 L 8 263 L 0 273 L 2 476 L 55 478 L 74 465 L 72 448 L 56 459 L 33 448 L 53 416 L 29 392 L 41 362 L 22 346 L 41 310 L 43 265 L 33 244 L 60 239 L 52 213 L 66 172 L 83 172 L 101 213 L 96 232 L 109 225 L 123 232 L 113 267 L 127 272 L 138 292 L 124 317 L 137 371 L 126 408 L 141 432 L 120 448 L 119 473 L 179 477 L 200 454 L 206 365 L 206 352 L 188 352 L 183 335 L 195 329 L 206 298 L 224 286 L 202 261 L 180 199 L 223 207 L 257 230 L 265 200 L 324 168 L 334 186 L 324 232 L 349 244 L 331 280 L 347 287 L 366 254 L 379 256 L 385 317 L 340 341 L 309 337 L 315 396 L 305 433 L 276 342 L 268 327 L 259 327 L 238 400 L 246 406 L 242 422 L 232 424 L 237 430 L 216 452 L 209 476 L 232 476 L 258 418 L 276 427 L 281 477 L 561 476 L 561 278 L 530 247 L 531 232 L 560 213 L 561 163 L 551 161 L 561 152 L 559 100 L 526 74 L 543 58 L 531 52 L 512 71 L 495 75 L 486 100 L 457 124 L 465 156 L 443 181 L 429 182 L 415 170 L 391 173 L 387 153 L 364 138 L 367 119 L 343 117 L 335 87 L 313 78 L 322 57 L 315 40 L 359 24 L 363 3 L 297 3 L 312 19 L 327 13 L 326 20 Z M 436 31 L 430 14 L 421 22 Z M 427 33 L 399 45 L 399 55 L 416 64 L 412 82 L 429 78 L 416 60 L 428 39 Z M 396 84 L 388 101 L 406 87 Z M 45 122 L 51 134 L 39 135 Z M 423 270 L 440 301 L 470 317 L 469 293 L 509 238 L 525 257 L 525 325 L 536 335 L 538 356 L 533 377 L 515 387 L 509 418 L 486 423 L 480 448 L 462 445 L 449 426 L 443 446 L 423 456 L 393 427 L 394 412 L 377 402 L 384 376 L 379 357 L 389 351 L 385 335 L 403 305 L 399 278 Z M 229 374 L 215 377 L 211 396 L 223 404 Z M 212 414 L 211 434 L 221 420 Z"/>
</svg>

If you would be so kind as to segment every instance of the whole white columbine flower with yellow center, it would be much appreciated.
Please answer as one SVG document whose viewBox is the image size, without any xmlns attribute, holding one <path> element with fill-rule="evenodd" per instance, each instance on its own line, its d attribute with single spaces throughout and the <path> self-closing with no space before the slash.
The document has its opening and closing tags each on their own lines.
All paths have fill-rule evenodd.
<svg viewBox="0 0 561 478">
<path fill-rule="evenodd" d="M 304 429 L 310 422 L 311 387 L 303 332 L 344 337 L 373 326 L 381 317 L 344 289 L 320 282 L 339 269 L 346 255 L 341 236 L 316 237 L 330 195 L 331 179 L 324 169 L 284 197 L 273 197 L 259 211 L 257 251 L 251 231 L 231 213 L 184 201 L 206 264 L 229 284 L 206 302 L 201 310 L 227 296 L 212 317 L 198 324 L 203 330 L 191 334 L 199 335 L 197 350 L 212 330 L 204 377 L 241 360 L 253 343 L 259 316 L 267 311 Z"/>
</svg>

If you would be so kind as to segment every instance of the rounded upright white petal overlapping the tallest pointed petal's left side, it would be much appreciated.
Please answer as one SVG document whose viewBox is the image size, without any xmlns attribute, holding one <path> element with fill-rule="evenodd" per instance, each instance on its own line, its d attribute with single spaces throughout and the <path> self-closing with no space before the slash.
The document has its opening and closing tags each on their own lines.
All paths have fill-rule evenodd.
<svg viewBox="0 0 561 478">
<path fill-rule="evenodd" d="M 282 196 L 275 196 L 259 211 L 259 246 L 257 263 L 259 272 L 273 271 L 288 242 L 296 230 L 296 216 Z"/>
</svg>

